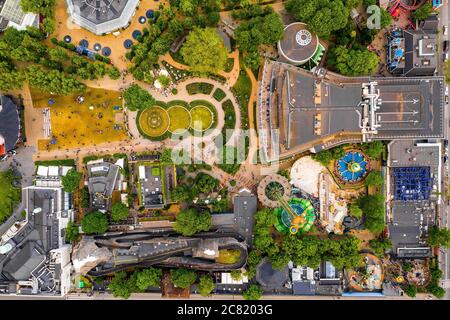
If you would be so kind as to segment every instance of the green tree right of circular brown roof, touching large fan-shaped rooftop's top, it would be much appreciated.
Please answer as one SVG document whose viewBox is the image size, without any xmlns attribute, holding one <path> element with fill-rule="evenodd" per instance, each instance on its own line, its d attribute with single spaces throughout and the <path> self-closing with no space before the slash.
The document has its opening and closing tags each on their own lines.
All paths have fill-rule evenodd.
<svg viewBox="0 0 450 320">
<path fill-rule="evenodd" d="M 334 48 L 336 70 L 345 76 L 368 76 L 378 68 L 379 57 L 374 52 L 364 49 L 348 49 L 344 46 Z"/>
</svg>

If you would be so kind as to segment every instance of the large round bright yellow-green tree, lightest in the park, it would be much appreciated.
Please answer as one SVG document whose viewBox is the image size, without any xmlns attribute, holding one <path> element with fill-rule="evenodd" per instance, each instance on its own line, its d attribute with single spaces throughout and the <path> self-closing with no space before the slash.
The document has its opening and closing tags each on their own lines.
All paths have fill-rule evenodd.
<svg viewBox="0 0 450 320">
<path fill-rule="evenodd" d="M 228 59 L 227 49 L 213 28 L 192 30 L 180 53 L 192 71 L 203 74 L 224 70 Z"/>
</svg>

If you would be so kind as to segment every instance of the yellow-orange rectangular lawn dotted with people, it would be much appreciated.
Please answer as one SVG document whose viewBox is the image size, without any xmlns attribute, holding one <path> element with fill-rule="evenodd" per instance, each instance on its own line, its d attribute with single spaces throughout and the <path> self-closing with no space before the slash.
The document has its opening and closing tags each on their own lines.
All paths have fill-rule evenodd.
<svg viewBox="0 0 450 320">
<path fill-rule="evenodd" d="M 35 108 L 50 107 L 51 129 L 56 138 L 55 144 L 40 140 L 40 150 L 76 148 L 127 137 L 122 111 L 114 110 L 115 106 L 122 107 L 120 92 L 87 88 L 81 104 L 76 101 L 77 95 L 55 96 L 36 90 L 31 95 Z M 49 99 L 54 101 L 52 105 Z"/>
</svg>

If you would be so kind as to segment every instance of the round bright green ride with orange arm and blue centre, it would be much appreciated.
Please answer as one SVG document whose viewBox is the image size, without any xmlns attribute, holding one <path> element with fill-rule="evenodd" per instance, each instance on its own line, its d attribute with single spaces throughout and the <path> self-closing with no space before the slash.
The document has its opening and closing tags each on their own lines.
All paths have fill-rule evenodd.
<svg viewBox="0 0 450 320">
<path fill-rule="evenodd" d="M 281 207 L 275 209 L 277 222 L 275 228 L 285 234 L 308 232 L 314 224 L 315 214 L 311 202 L 302 198 L 279 200 Z"/>
</svg>

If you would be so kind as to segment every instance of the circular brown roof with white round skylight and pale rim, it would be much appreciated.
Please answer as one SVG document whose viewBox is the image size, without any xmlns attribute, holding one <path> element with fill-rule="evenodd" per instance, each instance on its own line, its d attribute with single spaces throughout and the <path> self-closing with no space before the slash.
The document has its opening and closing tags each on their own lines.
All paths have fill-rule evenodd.
<svg viewBox="0 0 450 320">
<path fill-rule="evenodd" d="M 306 24 L 294 22 L 284 28 L 284 36 L 278 42 L 278 49 L 290 62 L 302 64 L 313 57 L 318 45 L 317 35 Z"/>
</svg>

